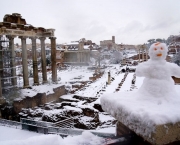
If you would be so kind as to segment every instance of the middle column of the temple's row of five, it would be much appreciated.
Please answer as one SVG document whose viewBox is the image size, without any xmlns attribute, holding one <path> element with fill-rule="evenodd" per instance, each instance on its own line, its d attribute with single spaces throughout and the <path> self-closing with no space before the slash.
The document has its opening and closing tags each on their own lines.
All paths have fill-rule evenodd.
<svg viewBox="0 0 180 145">
<path fill-rule="evenodd" d="M 32 40 L 32 60 L 33 60 L 34 85 L 39 85 L 37 51 L 36 51 L 36 37 L 30 37 L 30 39 Z"/>
</svg>

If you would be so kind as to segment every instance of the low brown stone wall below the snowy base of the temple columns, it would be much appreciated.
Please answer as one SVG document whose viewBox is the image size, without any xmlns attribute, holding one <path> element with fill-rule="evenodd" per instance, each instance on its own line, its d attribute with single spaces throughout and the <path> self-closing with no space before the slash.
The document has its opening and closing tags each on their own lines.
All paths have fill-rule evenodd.
<svg viewBox="0 0 180 145">
<path fill-rule="evenodd" d="M 58 101 L 60 96 L 66 94 L 65 86 L 54 88 L 53 91 L 54 93 L 49 95 L 46 95 L 46 93 L 37 93 L 33 97 L 27 96 L 22 100 L 15 100 L 13 102 L 14 113 L 21 112 L 22 108 L 33 108 L 48 102 Z"/>
</svg>

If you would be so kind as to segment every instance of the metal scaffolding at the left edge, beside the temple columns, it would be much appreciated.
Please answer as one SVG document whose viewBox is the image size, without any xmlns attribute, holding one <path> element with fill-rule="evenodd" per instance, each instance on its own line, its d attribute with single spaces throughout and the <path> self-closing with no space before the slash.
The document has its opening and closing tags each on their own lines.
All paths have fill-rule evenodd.
<svg viewBox="0 0 180 145">
<path fill-rule="evenodd" d="M 12 57 L 12 50 L 9 47 L 9 39 L 5 36 L 0 37 L 0 78 L 2 92 L 9 92 L 12 88 L 17 88 L 17 76 L 13 75 L 16 66 L 13 66 L 15 57 Z M 14 83 L 14 81 L 16 81 Z"/>
</svg>

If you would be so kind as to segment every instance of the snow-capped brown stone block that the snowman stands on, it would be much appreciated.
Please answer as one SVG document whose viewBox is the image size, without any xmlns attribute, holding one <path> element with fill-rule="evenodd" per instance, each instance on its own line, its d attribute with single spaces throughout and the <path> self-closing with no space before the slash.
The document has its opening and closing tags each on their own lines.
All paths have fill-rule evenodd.
<svg viewBox="0 0 180 145">
<path fill-rule="evenodd" d="M 117 134 L 125 135 L 128 132 L 134 132 L 154 145 L 180 141 L 179 108 L 168 102 L 143 104 L 144 101 L 134 99 L 133 95 L 134 92 L 129 92 L 113 93 L 111 96 L 101 97 L 102 109 L 125 126 L 124 128 L 119 127 Z M 167 106 L 169 109 L 162 109 Z"/>
</svg>

